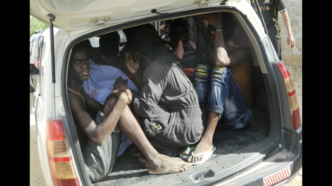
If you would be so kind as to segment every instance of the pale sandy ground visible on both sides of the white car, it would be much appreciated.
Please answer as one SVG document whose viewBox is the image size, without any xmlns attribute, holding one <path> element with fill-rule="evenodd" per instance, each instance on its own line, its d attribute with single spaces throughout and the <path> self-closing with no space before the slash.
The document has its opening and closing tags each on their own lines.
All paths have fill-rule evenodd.
<svg viewBox="0 0 332 186">
<path fill-rule="evenodd" d="M 302 66 L 287 66 L 287 68 L 290 71 L 294 81 L 302 120 Z M 43 178 L 41 166 L 39 163 L 35 118 L 31 111 L 31 108 L 34 106 L 34 104 L 35 97 L 33 93 L 30 93 L 30 185 L 44 186 L 46 183 Z M 302 186 L 302 169 L 291 182 L 284 184 L 284 186 Z"/>
</svg>

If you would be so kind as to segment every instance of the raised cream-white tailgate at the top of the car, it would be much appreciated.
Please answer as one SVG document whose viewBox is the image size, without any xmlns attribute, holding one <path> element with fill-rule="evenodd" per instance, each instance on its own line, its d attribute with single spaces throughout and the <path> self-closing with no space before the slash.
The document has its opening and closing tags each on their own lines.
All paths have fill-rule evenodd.
<svg viewBox="0 0 332 186">
<path fill-rule="evenodd" d="M 49 24 L 47 14 L 53 14 L 56 17 L 54 27 L 75 30 L 157 16 L 157 13 L 151 13 L 153 9 L 158 13 L 172 13 L 206 6 L 207 2 L 220 4 L 220 0 L 135 0 L 125 3 L 123 0 L 31 0 L 30 15 Z"/>
</svg>

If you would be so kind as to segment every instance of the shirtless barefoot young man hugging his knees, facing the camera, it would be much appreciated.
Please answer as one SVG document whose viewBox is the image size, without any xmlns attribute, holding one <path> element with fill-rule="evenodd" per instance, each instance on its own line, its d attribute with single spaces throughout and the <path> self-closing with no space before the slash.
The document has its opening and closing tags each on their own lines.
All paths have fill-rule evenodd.
<svg viewBox="0 0 332 186">
<path fill-rule="evenodd" d="M 128 104 L 131 93 L 126 81 L 119 77 L 104 105 L 88 96 L 81 88 L 89 78 L 89 57 L 83 46 L 73 47 L 68 67 L 68 100 L 85 168 L 91 182 L 105 178 L 112 170 L 117 155 L 120 132 L 128 136 L 148 160 L 150 174 L 187 170 L 191 163 L 160 155 L 145 137 Z M 96 119 L 88 112 L 97 113 Z M 120 131 L 121 130 L 121 131 Z"/>
</svg>

